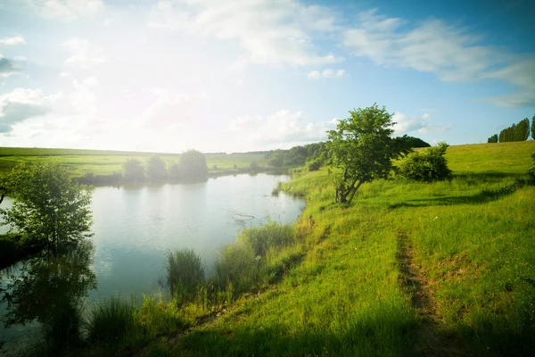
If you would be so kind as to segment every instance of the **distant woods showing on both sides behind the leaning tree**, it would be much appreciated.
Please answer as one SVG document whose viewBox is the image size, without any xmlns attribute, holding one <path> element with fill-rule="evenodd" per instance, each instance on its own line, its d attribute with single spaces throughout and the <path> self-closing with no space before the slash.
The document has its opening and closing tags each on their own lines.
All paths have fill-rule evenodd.
<svg viewBox="0 0 535 357">
<path fill-rule="evenodd" d="M 397 145 L 414 148 L 414 147 L 429 147 L 428 143 L 424 142 L 419 137 L 396 137 Z M 318 170 L 327 159 L 327 147 L 325 143 L 314 143 L 309 145 L 293 146 L 289 150 L 273 150 L 264 155 L 264 160 L 269 165 L 282 168 L 306 165 L 309 170 Z"/>
</svg>

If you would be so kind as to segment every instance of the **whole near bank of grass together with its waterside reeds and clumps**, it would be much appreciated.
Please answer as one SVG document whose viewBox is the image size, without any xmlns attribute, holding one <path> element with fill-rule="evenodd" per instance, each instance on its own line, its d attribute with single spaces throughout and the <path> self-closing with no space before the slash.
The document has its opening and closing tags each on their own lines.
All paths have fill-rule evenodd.
<svg viewBox="0 0 535 357">
<path fill-rule="evenodd" d="M 169 253 L 169 298 L 145 296 L 139 308 L 111 298 L 61 351 L 531 355 L 533 151 L 535 142 L 449 146 L 449 180 L 375 179 L 352 204 L 334 202 L 327 168 L 293 170 L 274 189 L 306 198 L 292 226 L 244 229 L 209 277 L 194 252 Z M 43 344 L 22 353 L 57 353 Z"/>
</svg>

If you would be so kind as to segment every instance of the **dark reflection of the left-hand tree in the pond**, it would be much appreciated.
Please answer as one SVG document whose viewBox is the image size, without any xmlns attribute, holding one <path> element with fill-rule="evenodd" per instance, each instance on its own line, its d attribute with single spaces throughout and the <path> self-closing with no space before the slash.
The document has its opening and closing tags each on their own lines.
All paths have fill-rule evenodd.
<svg viewBox="0 0 535 357">
<path fill-rule="evenodd" d="M 83 303 L 88 291 L 96 288 L 90 269 L 93 253 L 93 244 L 84 240 L 57 256 L 29 259 L 7 278 L 4 275 L 7 284 L 0 292 L 7 303 L 4 325 L 38 322 L 47 347 L 77 344 Z"/>
</svg>

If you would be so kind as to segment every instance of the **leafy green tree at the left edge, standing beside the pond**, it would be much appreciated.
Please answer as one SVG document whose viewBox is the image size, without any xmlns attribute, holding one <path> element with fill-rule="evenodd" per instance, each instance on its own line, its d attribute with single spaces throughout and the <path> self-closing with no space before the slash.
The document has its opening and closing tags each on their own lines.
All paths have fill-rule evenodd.
<svg viewBox="0 0 535 357">
<path fill-rule="evenodd" d="M 73 182 L 58 162 L 21 163 L 5 179 L 13 199 L 0 214 L 24 239 L 58 245 L 91 237 L 90 188 Z"/>
</svg>

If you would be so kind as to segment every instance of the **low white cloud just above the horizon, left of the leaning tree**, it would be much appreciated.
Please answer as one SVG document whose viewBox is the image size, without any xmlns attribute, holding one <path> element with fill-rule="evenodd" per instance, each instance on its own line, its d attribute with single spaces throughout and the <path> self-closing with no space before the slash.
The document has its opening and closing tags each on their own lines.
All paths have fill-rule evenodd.
<svg viewBox="0 0 535 357">
<path fill-rule="evenodd" d="M 329 122 L 308 122 L 302 112 L 281 110 L 267 118 L 240 117 L 230 123 L 228 130 L 236 139 L 246 140 L 256 147 L 265 145 L 298 145 L 325 140 L 327 130 L 334 129 L 335 120 Z"/>
</svg>

